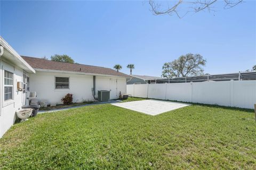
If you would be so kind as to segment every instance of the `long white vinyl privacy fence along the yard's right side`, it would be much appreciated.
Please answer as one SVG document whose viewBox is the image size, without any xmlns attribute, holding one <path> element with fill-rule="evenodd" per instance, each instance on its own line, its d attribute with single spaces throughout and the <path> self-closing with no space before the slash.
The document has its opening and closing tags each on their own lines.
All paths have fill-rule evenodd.
<svg viewBox="0 0 256 170">
<path fill-rule="evenodd" d="M 130 84 L 127 85 L 127 94 L 133 97 L 253 108 L 256 104 L 256 80 Z"/>
</svg>

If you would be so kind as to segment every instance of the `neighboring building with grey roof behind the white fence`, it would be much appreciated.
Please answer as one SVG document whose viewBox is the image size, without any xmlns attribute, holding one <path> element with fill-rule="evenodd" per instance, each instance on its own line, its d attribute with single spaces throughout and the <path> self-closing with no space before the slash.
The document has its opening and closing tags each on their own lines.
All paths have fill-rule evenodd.
<svg viewBox="0 0 256 170">
<path fill-rule="evenodd" d="M 127 78 L 127 84 L 147 84 L 147 83 L 156 83 L 156 80 L 162 79 L 161 77 L 153 77 L 148 75 L 130 75 L 130 78 Z"/>
</svg>

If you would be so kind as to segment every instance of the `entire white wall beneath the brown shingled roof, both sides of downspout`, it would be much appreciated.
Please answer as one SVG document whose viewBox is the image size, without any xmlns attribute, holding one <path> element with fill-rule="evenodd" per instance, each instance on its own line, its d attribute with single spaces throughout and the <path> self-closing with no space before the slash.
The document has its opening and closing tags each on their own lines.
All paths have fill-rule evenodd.
<svg viewBox="0 0 256 170">
<path fill-rule="evenodd" d="M 55 77 L 69 77 L 69 89 L 55 89 Z M 117 90 L 122 91 L 123 94 L 126 93 L 125 78 L 96 75 L 96 97 L 98 96 L 98 90 L 110 90 L 110 78 L 117 79 Z M 93 75 L 39 71 L 36 74 L 29 75 L 30 91 L 36 91 L 38 100 L 47 99 L 50 103 L 57 102 L 61 104 L 61 98 L 68 93 L 73 94 L 74 103 L 84 100 L 94 100 L 92 88 Z"/>
</svg>

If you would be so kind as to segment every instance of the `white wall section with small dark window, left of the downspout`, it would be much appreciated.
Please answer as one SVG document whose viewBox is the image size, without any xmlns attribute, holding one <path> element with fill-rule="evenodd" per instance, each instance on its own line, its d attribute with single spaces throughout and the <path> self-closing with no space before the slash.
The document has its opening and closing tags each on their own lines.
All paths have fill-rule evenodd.
<svg viewBox="0 0 256 170">
<path fill-rule="evenodd" d="M 55 77 L 68 77 L 69 89 L 55 89 Z M 93 100 L 92 75 L 36 72 L 29 75 L 29 91 L 36 91 L 37 99 L 47 99 L 50 103 L 61 104 L 61 98 L 73 94 L 73 102 Z"/>
</svg>

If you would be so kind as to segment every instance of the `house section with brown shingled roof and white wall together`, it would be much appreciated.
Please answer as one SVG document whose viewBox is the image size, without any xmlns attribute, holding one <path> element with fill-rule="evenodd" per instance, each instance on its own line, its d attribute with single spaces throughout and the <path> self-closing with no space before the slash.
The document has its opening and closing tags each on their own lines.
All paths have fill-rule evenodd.
<svg viewBox="0 0 256 170">
<path fill-rule="evenodd" d="M 61 103 L 66 94 L 73 94 L 74 102 L 93 100 L 98 90 L 110 90 L 110 99 L 119 98 L 119 92 L 126 94 L 128 75 L 106 67 L 71 64 L 22 56 L 35 70 L 29 74 L 29 91 L 36 91 L 37 99 L 50 103 Z M 94 82 L 93 82 L 94 81 Z"/>
</svg>

